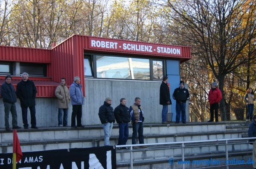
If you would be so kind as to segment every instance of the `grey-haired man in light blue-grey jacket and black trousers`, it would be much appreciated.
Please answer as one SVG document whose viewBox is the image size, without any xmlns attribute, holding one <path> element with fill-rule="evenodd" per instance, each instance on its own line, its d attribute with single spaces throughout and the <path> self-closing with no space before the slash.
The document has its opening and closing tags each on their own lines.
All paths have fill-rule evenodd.
<svg viewBox="0 0 256 169">
<path fill-rule="evenodd" d="M 71 115 L 71 127 L 84 127 L 81 124 L 82 118 L 82 105 L 84 104 L 84 96 L 82 92 L 82 85 L 80 85 L 80 78 L 79 76 L 74 77 L 74 82 L 70 85 L 70 97 L 71 97 L 71 104 L 73 106 L 73 111 Z M 76 126 L 77 121 L 77 126 Z"/>
</svg>

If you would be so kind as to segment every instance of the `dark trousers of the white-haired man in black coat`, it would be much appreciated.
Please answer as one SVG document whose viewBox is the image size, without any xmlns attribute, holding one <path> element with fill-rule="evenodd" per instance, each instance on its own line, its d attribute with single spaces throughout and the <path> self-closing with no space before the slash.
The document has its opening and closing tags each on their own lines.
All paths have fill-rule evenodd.
<svg viewBox="0 0 256 169">
<path fill-rule="evenodd" d="M 30 110 L 30 117 L 31 117 L 31 127 L 36 126 L 36 118 L 35 118 L 35 106 L 29 107 Z M 21 112 L 22 112 L 22 121 L 23 121 L 23 126 L 24 127 L 29 127 L 28 124 L 28 107 L 21 107 Z"/>
</svg>

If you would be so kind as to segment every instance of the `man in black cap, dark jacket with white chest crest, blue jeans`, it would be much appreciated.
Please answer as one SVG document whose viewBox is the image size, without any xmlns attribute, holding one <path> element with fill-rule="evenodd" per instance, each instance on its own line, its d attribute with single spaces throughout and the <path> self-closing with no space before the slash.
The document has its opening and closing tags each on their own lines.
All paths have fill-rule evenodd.
<svg viewBox="0 0 256 169">
<path fill-rule="evenodd" d="M 176 100 L 176 122 L 180 122 L 180 111 L 181 121 L 186 124 L 186 101 L 190 99 L 189 90 L 184 87 L 184 82 L 180 81 L 180 87 L 177 87 L 172 95 L 172 98 Z"/>
</svg>

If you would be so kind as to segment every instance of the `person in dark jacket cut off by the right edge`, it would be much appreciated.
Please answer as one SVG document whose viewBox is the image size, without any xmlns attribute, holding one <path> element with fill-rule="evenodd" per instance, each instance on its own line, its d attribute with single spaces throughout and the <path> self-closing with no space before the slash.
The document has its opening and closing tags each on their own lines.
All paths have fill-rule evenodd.
<svg viewBox="0 0 256 169">
<path fill-rule="evenodd" d="M 253 122 L 248 128 L 248 137 L 256 137 L 256 115 L 253 115 Z M 256 161 L 256 142 L 255 139 L 250 139 L 249 142 L 253 142 L 253 161 Z M 253 163 L 253 169 L 256 169 L 256 163 Z"/>
</svg>

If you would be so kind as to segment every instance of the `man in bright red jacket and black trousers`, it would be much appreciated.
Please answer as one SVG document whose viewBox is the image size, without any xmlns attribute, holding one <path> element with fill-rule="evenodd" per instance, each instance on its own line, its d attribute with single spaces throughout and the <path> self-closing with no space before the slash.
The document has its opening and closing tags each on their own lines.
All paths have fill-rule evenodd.
<svg viewBox="0 0 256 169">
<path fill-rule="evenodd" d="M 217 82 L 212 82 L 212 88 L 209 91 L 208 100 L 210 104 L 211 118 L 208 122 L 213 122 L 213 111 L 215 110 L 215 122 L 218 122 L 218 103 L 222 99 L 221 90 L 217 87 Z"/>
</svg>

